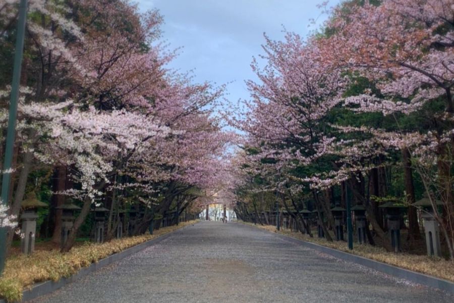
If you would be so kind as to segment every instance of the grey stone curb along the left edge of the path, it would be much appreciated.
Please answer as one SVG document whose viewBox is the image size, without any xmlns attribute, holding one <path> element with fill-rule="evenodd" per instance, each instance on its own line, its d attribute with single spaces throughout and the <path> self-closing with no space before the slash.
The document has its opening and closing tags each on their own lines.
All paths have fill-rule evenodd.
<svg viewBox="0 0 454 303">
<path fill-rule="evenodd" d="M 198 224 L 198 223 L 199 222 L 196 222 L 196 223 L 194 223 L 194 225 Z M 104 259 L 99 260 L 96 263 L 92 263 L 88 267 L 81 268 L 81 270 L 79 272 L 77 272 L 76 274 L 74 274 L 70 277 L 61 278 L 58 281 L 49 280 L 49 281 L 44 281 L 44 282 L 37 282 L 37 283 L 33 284 L 30 289 L 24 290 L 22 292 L 22 301 L 21 302 L 26 302 L 26 301 L 35 299 L 39 296 L 51 293 L 51 292 L 61 288 L 62 286 L 72 283 L 106 265 L 109 265 L 114 262 L 125 259 L 126 257 L 129 257 L 129 256 L 135 254 L 136 252 L 139 252 L 140 250 L 145 249 L 148 246 L 157 244 L 157 243 L 161 242 L 162 240 L 168 238 L 169 236 L 175 234 L 176 232 L 179 232 L 189 226 L 192 226 L 192 225 L 184 226 L 182 228 L 179 228 L 179 229 L 176 229 L 169 233 L 158 236 L 154 239 L 151 239 L 151 240 L 142 242 L 140 244 L 137 244 L 135 246 L 129 247 L 121 252 L 117 252 L 117 254 L 110 255 Z M 7 301 L 6 301 L 6 299 L 0 299 L 0 303 L 7 303 Z"/>
</svg>

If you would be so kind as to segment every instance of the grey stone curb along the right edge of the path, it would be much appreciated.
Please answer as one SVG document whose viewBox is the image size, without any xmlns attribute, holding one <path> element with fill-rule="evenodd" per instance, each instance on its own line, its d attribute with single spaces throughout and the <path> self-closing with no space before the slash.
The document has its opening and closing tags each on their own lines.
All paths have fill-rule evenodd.
<svg viewBox="0 0 454 303">
<path fill-rule="evenodd" d="M 251 225 L 248 225 L 248 224 L 243 224 L 243 225 L 244 226 L 249 226 L 249 227 L 254 228 L 254 229 L 261 230 L 261 231 L 263 231 L 265 233 L 268 233 L 268 234 L 275 235 L 275 236 L 277 236 L 277 237 L 279 237 L 279 238 L 281 238 L 283 240 L 286 240 L 286 241 L 289 241 L 289 242 L 293 242 L 293 243 L 296 243 L 296 244 L 301 244 L 303 246 L 306 246 L 306 247 L 321 251 L 324 254 L 333 256 L 335 258 L 338 258 L 338 259 L 341 259 L 341 260 L 344 260 L 344 261 L 353 262 L 353 263 L 356 263 L 356 264 L 359 264 L 359 265 L 362 265 L 362 266 L 369 267 L 369 268 L 374 269 L 374 270 L 376 270 L 378 272 L 382 272 L 384 274 L 388 274 L 388 275 L 391 275 L 391 276 L 394 276 L 394 277 L 397 277 L 397 278 L 408 280 L 408 281 L 413 282 L 413 283 L 421 284 L 421 285 L 432 287 L 432 288 L 437 288 L 437 289 L 443 290 L 445 292 L 448 292 L 450 294 L 454 294 L 454 283 L 450 282 L 448 280 L 444 280 L 444 279 L 441 279 L 441 278 L 429 276 L 429 275 L 426 275 L 426 274 L 421 274 L 421 273 L 418 273 L 418 272 L 414 272 L 414 271 L 411 271 L 411 270 L 408 270 L 408 269 L 404 269 L 404 268 L 400 268 L 400 267 L 397 267 L 397 266 L 389 265 L 389 264 L 386 264 L 386 263 L 383 263 L 383 262 L 380 262 L 380 261 L 375 261 L 375 260 L 372 260 L 372 259 L 368 259 L 368 258 L 365 258 L 365 257 L 360 257 L 360 256 L 357 256 L 357 255 L 350 254 L 349 252 L 345 252 L 345 251 L 329 248 L 329 247 L 326 247 L 326 246 L 323 246 L 323 245 L 319 245 L 319 244 L 316 244 L 316 243 L 311 243 L 311 242 L 304 241 L 304 240 L 297 239 L 297 238 L 293 238 L 293 237 L 290 237 L 290 236 L 287 236 L 287 235 L 278 234 L 276 232 L 264 230 L 264 229 L 261 229 L 261 228 L 258 228 L 258 227 L 254 227 L 254 226 L 251 226 Z"/>
</svg>

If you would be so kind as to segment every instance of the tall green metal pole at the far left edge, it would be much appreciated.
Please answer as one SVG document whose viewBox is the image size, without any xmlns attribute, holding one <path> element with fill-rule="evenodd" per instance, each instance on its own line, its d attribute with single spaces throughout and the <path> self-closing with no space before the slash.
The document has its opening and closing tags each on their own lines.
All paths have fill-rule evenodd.
<svg viewBox="0 0 454 303">
<path fill-rule="evenodd" d="M 16 135 L 17 101 L 21 80 L 22 56 L 24 54 L 25 22 L 27 17 L 27 0 L 21 0 L 19 5 L 19 20 L 17 23 L 16 48 L 14 54 L 13 83 L 11 87 L 10 116 L 8 118 L 7 141 L 5 147 L 4 170 L 11 169 L 13 162 L 14 137 Z M 4 173 L 2 178 L 2 203 L 8 205 L 11 173 Z M 7 229 L 0 227 L 0 275 L 5 269 Z"/>
</svg>

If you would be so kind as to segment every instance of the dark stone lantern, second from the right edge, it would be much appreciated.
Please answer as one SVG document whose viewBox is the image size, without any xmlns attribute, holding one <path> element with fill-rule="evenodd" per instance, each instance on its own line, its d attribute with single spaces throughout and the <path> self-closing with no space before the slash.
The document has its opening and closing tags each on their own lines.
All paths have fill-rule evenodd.
<svg viewBox="0 0 454 303">
<path fill-rule="evenodd" d="M 401 219 L 407 206 L 401 201 L 390 200 L 379 206 L 385 210 L 388 230 L 391 234 L 391 246 L 394 252 L 401 250 Z"/>
</svg>

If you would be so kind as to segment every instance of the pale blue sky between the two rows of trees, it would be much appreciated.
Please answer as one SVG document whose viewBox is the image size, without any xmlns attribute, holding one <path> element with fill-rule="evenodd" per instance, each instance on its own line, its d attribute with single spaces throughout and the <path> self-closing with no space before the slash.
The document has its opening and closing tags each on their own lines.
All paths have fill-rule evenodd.
<svg viewBox="0 0 454 303">
<path fill-rule="evenodd" d="M 163 40 L 171 48 L 183 46 L 170 67 L 194 70 L 195 81 L 228 84 L 230 102 L 249 98 L 244 80 L 256 79 L 252 57 L 263 54 L 265 32 L 282 39 L 282 25 L 305 37 L 321 24 L 317 4 L 322 0 L 135 0 L 140 10 L 157 8 L 164 16 Z M 331 0 L 335 5 L 339 0 Z"/>
</svg>

